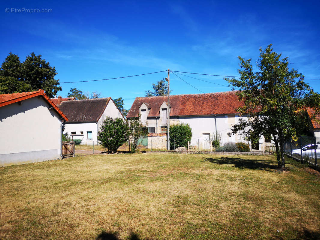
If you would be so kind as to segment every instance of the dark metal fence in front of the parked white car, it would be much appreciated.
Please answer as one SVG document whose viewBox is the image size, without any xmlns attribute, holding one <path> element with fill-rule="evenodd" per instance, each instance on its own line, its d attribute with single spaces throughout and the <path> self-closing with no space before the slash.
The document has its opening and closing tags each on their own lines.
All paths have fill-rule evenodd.
<svg viewBox="0 0 320 240">
<path fill-rule="evenodd" d="M 320 138 L 316 137 L 300 137 L 298 141 L 284 143 L 284 152 L 286 155 L 318 165 L 320 159 Z"/>
</svg>

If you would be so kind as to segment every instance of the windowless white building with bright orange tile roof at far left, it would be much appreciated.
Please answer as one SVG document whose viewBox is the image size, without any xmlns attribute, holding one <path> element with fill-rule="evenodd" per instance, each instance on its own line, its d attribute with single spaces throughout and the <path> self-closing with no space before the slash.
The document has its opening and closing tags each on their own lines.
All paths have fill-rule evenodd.
<svg viewBox="0 0 320 240">
<path fill-rule="evenodd" d="M 43 90 L 0 95 L 0 166 L 61 156 L 67 116 Z"/>
</svg>

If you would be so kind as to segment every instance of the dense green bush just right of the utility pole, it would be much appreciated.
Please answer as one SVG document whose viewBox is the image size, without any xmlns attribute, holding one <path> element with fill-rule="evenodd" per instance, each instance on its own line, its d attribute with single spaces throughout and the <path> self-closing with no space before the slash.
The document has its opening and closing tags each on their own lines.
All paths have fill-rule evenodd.
<svg viewBox="0 0 320 240">
<path fill-rule="evenodd" d="M 189 124 L 181 123 L 170 125 L 170 149 L 175 146 L 188 148 L 188 141 L 191 141 L 192 129 Z"/>
</svg>

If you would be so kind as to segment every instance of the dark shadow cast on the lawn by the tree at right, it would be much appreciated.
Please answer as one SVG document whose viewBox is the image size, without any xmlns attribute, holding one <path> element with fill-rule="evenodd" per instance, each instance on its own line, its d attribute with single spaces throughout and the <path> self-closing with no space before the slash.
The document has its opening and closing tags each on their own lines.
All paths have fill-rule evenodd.
<svg viewBox="0 0 320 240">
<path fill-rule="evenodd" d="M 271 160 L 255 160 L 255 159 L 245 159 L 245 158 L 234 158 L 234 157 L 204 157 L 204 162 L 210 162 L 215 164 L 231 164 L 235 165 L 237 168 L 248 168 L 248 169 L 260 169 L 267 170 L 277 169 L 274 161 Z"/>
</svg>

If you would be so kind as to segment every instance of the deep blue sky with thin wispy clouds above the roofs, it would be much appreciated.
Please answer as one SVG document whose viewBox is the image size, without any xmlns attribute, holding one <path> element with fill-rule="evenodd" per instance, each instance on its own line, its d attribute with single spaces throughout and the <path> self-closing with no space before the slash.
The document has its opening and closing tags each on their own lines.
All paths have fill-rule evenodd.
<svg viewBox="0 0 320 240">
<path fill-rule="evenodd" d="M 9 8 L 9 12 L 5 9 Z M 12 9 L 52 9 L 51 13 L 11 12 Z M 320 78 L 318 1 L 28 1 L 1 3 L 1 62 L 12 52 L 23 61 L 41 54 L 56 67 L 60 82 L 104 79 L 176 71 L 237 75 L 237 56 L 258 59 L 259 47 L 273 44 L 289 56 L 292 68 L 306 78 Z M 13 10 L 14 11 L 14 10 Z M 180 76 L 180 75 L 178 75 Z M 122 97 L 130 108 L 152 83 L 166 73 L 61 84 Z M 180 76 L 203 92 L 228 87 Z M 193 76 L 228 85 L 223 77 Z M 306 80 L 320 92 L 320 80 Z M 173 74 L 171 94 L 200 93 Z"/>
</svg>

